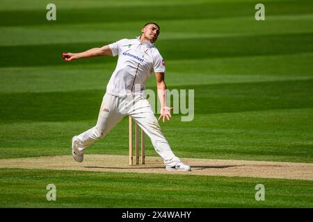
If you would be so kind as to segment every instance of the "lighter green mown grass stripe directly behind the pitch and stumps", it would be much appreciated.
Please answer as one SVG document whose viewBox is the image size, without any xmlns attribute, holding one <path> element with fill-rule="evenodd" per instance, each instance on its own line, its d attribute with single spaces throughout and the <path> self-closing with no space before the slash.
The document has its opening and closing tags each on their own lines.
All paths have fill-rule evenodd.
<svg viewBox="0 0 313 222">
<path fill-rule="evenodd" d="M 192 122 L 173 114 L 161 127 L 179 157 L 312 162 L 312 110 L 195 114 Z M 95 126 L 95 121 L 1 123 L 0 158 L 70 155 L 73 135 Z M 86 153 L 127 155 L 127 123 L 123 119 Z M 146 142 L 146 155 L 158 156 L 149 139 Z"/>
</svg>

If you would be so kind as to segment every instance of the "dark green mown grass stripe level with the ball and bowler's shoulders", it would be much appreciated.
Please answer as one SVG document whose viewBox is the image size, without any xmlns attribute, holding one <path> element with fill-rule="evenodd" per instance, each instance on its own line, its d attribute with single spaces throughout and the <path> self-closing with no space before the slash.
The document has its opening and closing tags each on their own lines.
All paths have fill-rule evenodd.
<svg viewBox="0 0 313 222">
<path fill-rule="evenodd" d="M 157 47 L 167 60 L 224 58 L 237 56 L 284 55 L 313 51 L 312 33 L 264 35 L 253 37 L 216 37 L 186 40 L 166 40 Z M 0 67 L 61 65 L 63 51 L 86 51 L 111 42 L 88 44 L 44 44 L 32 46 L 0 46 Z M 114 58 L 116 60 L 116 58 Z M 69 62 L 73 64 L 112 62 L 112 58 L 93 58 Z"/>
</svg>

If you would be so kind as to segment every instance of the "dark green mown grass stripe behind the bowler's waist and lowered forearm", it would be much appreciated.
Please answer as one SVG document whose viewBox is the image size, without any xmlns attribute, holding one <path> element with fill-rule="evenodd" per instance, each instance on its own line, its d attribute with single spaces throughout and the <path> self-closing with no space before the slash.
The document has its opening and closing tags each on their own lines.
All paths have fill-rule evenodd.
<svg viewBox="0 0 313 222">
<path fill-rule="evenodd" d="M 312 108 L 313 80 L 185 85 L 195 90 L 195 114 Z M 156 88 L 154 87 L 154 90 Z M 1 121 L 95 119 L 104 90 L 0 94 Z M 188 94 L 187 94 L 188 95 Z M 188 97 L 187 97 L 188 98 Z M 170 104 L 169 104 L 170 105 Z"/>
</svg>

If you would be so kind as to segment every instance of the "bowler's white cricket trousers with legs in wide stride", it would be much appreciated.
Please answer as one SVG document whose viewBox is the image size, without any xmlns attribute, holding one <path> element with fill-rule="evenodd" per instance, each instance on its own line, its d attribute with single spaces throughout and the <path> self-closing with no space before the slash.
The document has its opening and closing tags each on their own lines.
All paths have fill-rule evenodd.
<svg viewBox="0 0 313 222">
<path fill-rule="evenodd" d="M 143 94 L 128 94 L 124 97 L 104 94 L 96 126 L 77 137 L 79 151 L 105 137 L 126 115 L 131 116 L 150 137 L 155 151 L 162 157 L 166 166 L 174 167 L 180 161 L 161 133 L 159 122 Z"/>
</svg>

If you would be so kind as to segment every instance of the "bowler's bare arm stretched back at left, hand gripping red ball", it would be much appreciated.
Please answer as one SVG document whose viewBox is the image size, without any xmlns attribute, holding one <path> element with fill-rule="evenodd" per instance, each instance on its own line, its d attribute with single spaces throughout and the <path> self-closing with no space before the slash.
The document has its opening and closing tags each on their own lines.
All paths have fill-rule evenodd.
<svg viewBox="0 0 313 222">
<path fill-rule="evenodd" d="M 62 58 L 65 61 L 77 60 L 78 58 L 91 58 L 95 56 L 113 56 L 108 45 L 101 48 L 93 48 L 81 53 L 62 53 Z"/>
</svg>

